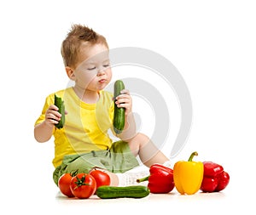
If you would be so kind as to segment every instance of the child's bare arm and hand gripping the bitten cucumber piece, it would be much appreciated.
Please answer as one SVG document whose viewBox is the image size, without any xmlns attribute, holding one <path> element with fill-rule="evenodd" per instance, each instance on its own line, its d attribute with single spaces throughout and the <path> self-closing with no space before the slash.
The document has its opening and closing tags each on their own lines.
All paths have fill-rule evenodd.
<svg viewBox="0 0 256 215">
<path fill-rule="evenodd" d="M 34 137 L 39 143 L 48 141 L 53 133 L 55 124 L 61 120 L 61 114 L 58 112 L 58 107 L 50 105 L 45 112 L 45 120 L 34 127 Z"/>
</svg>

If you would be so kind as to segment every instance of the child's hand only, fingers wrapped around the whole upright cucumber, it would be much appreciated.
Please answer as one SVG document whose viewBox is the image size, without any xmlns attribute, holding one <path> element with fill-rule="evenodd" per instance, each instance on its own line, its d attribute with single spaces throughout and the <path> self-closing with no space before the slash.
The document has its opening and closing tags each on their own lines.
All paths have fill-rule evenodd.
<svg viewBox="0 0 256 215">
<path fill-rule="evenodd" d="M 132 109 L 132 99 L 128 89 L 123 89 L 115 99 L 115 104 L 118 107 L 125 108 L 125 115 L 128 115 Z"/>
</svg>

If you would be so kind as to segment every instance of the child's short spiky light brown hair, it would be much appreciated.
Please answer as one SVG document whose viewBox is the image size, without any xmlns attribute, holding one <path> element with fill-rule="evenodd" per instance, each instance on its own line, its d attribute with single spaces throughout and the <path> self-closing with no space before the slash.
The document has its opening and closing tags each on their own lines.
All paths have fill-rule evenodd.
<svg viewBox="0 0 256 215">
<path fill-rule="evenodd" d="M 79 48 L 83 42 L 89 42 L 90 45 L 102 43 L 108 48 L 106 38 L 96 31 L 84 25 L 72 25 L 71 31 L 61 44 L 61 55 L 65 66 L 74 66 L 77 63 Z"/>
</svg>

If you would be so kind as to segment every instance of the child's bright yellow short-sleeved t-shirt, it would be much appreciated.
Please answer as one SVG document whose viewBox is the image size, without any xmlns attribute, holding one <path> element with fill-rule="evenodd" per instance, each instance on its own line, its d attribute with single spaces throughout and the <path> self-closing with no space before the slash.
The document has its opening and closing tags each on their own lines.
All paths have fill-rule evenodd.
<svg viewBox="0 0 256 215">
<path fill-rule="evenodd" d="M 113 94 L 107 91 L 99 92 L 100 98 L 96 104 L 86 104 L 79 99 L 73 88 L 51 93 L 45 100 L 41 116 L 35 122 L 44 122 L 45 112 L 49 105 L 54 104 L 55 94 L 64 100 L 65 125 L 54 129 L 55 158 L 53 165 L 61 165 L 63 156 L 81 154 L 91 150 L 107 150 L 112 139 L 108 136 L 113 125 Z"/>
</svg>

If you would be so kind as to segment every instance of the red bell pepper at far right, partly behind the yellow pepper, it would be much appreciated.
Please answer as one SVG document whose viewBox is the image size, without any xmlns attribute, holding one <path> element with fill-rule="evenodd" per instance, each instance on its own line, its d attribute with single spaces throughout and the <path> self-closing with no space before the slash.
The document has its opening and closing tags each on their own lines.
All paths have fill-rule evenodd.
<svg viewBox="0 0 256 215">
<path fill-rule="evenodd" d="M 230 182 L 229 173 L 224 172 L 224 167 L 212 161 L 204 161 L 204 177 L 201 191 L 218 192 L 224 190 Z"/>
</svg>

